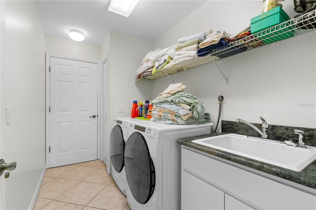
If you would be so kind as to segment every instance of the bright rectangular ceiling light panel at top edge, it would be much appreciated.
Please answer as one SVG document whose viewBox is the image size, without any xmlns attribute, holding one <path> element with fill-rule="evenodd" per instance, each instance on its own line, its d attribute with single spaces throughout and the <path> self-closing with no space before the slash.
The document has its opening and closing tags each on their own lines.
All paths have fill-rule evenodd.
<svg viewBox="0 0 316 210">
<path fill-rule="evenodd" d="M 109 11 L 128 17 L 139 0 L 111 0 Z"/>
</svg>

